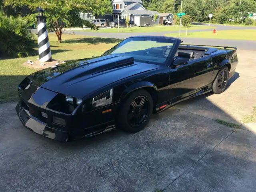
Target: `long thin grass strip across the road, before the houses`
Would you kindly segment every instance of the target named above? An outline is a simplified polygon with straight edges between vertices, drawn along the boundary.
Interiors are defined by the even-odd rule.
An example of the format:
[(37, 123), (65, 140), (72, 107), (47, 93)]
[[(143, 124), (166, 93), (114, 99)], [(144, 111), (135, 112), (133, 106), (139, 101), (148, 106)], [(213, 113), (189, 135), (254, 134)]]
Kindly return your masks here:
[[(200, 30), (200, 29), (209, 29), (212, 27), (209, 26), (190, 26), (189, 30)], [(182, 30), (185, 30), (183, 26)], [(120, 27), (118, 28), (99, 28), (98, 32), (100, 33), (142, 33), (142, 32), (168, 32), (168, 31), (178, 31), (180, 30), (179, 26), (153, 26), (153, 27)], [(74, 30), (74, 31), (85, 31), (85, 32), (95, 32), (94, 30), (86, 29), (86, 30)]]

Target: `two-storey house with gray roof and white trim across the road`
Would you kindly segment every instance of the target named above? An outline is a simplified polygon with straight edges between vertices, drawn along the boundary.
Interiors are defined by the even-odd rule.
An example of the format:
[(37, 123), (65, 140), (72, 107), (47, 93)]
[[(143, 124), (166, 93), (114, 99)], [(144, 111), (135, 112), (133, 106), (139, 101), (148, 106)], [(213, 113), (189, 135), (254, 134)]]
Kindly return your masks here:
[(157, 11), (146, 10), (142, 6), (141, 0), (112, 0), (113, 13), (112, 20), (130, 18), (130, 21), (134, 21), (134, 16), (150, 16), (154, 20), (154, 15), (157, 15), (157, 21), (155, 24), (159, 24), (159, 13)]

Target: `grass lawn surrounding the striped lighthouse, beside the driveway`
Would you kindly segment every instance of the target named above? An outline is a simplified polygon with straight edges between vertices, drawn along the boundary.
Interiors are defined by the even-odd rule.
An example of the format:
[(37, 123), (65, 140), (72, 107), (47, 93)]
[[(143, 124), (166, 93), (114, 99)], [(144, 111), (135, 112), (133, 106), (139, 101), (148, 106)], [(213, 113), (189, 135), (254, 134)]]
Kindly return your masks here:
[[(73, 60), (99, 56), (121, 40), (116, 38), (86, 37), (64, 34), (62, 43), (57, 36), (49, 35), (52, 58), (55, 60)], [(26, 60), (36, 60), (38, 56), (26, 58), (0, 58), (0, 104), (16, 101), (17, 86), (29, 74), (37, 69), (23, 66)]]

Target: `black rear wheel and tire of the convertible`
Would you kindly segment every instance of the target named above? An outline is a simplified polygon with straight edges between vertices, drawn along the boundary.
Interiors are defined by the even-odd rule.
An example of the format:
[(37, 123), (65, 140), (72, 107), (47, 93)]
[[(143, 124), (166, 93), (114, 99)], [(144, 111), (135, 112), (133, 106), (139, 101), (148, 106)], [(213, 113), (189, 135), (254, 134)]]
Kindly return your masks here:
[(220, 94), (226, 90), (228, 85), (228, 75), (228, 67), (222, 67), (212, 84), (212, 92), (214, 92), (215, 94)]

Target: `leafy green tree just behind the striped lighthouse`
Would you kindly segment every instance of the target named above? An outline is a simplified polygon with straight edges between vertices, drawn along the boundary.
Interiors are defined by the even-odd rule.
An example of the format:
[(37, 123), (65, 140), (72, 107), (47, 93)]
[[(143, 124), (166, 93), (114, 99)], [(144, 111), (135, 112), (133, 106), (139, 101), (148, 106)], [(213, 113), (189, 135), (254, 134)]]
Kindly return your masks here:
[[(108, 0), (4, 0), (5, 6), (27, 6), (35, 11), (39, 6), (45, 10), (48, 30), (54, 30), (58, 41), (62, 41), (62, 33), (65, 27), (84, 25), (97, 30), (96, 26), (87, 20), (82, 20), (79, 12), (92, 12), (94, 14), (106, 14), (112, 10)], [(105, 4), (104, 4), (105, 3)]]

